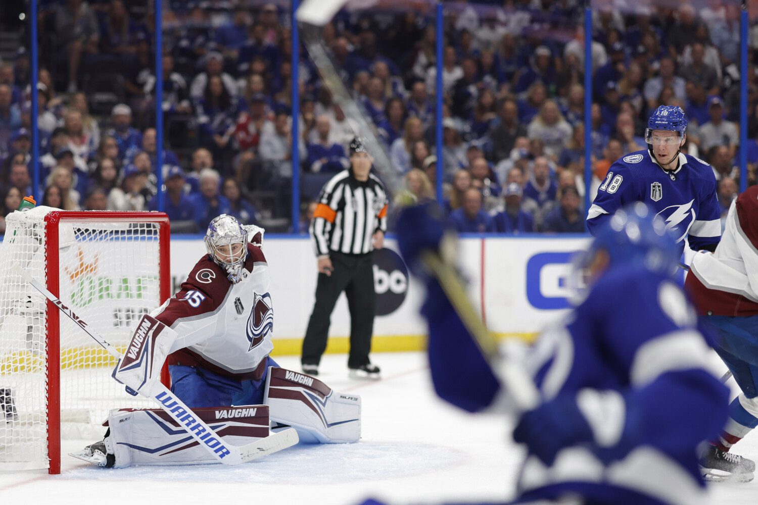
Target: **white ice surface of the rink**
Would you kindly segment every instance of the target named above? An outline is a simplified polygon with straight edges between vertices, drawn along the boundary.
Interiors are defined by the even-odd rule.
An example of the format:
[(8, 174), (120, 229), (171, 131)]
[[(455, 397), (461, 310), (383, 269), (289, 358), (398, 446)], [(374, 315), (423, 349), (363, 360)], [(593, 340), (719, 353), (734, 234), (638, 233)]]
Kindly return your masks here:
[[(374, 354), (380, 381), (348, 379), (345, 355), (327, 355), (320, 379), (363, 399), (357, 444), (303, 445), (241, 466), (100, 469), (65, 456), (61, 475), (0, 472), (0, 503), (240, 503), (343, 505), (376, 497), (393, 505), (498, 501), (512, 496), (522, 450), (498, 416), (471, 416), (434, 396), (421, 353)], [(296, 357), (280, 357), (298, 369)], [(64, 451), (91, 441), (64, 441)], [(758, 457), (758, 436), (736, 446)], [(713, 503), (758, 503), (758, 484), (716, 485)]]

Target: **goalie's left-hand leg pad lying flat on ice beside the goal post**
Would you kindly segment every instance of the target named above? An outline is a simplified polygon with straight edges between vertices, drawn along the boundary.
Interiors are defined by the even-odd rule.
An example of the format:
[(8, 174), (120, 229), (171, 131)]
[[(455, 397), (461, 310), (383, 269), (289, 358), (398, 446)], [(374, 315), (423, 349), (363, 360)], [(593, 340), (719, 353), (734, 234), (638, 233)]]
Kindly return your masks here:
[[(250, 444), (269, 435), (266, 405), (200, 408), (186, 413), (186, 416), (199, 417), (214, 430), (208, 436), (218, 438), (221, 435), (224, 441), (236, 446)], [(111, 434), (105, 442), (116, 457), (114, 468), (218, 463), (208, 449), (201, 447), (164, 410), (111, 410), (108, 426)]]

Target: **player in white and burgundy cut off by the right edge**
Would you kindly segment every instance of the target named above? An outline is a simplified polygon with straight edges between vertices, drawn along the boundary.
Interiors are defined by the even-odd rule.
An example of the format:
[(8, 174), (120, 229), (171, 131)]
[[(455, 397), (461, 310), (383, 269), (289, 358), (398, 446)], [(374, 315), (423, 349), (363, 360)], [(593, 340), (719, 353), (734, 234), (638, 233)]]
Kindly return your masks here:
[(695, 254), (685, 288), (702, 320), (719, 330), (714, 347), (742, 390), (724, 431), (700, 459), (703, 476), (749, 482), (755, 463), (729, 449), (758, 426), (758, 186), (731, 203), (719, 247)]

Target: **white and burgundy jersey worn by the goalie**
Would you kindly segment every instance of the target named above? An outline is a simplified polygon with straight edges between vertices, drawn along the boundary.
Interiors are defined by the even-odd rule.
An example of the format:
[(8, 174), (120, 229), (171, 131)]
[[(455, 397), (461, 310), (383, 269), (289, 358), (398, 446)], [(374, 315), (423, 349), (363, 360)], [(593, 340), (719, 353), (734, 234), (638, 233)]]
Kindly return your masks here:
[(236, 284), (207, 256), (181, 290), (151, 315), (177, 332), (169, 365), (202, 366), (236, 380), (260, 380), (274, 348), (271, 274), (258, 235), (248, 245), (243, 278)]

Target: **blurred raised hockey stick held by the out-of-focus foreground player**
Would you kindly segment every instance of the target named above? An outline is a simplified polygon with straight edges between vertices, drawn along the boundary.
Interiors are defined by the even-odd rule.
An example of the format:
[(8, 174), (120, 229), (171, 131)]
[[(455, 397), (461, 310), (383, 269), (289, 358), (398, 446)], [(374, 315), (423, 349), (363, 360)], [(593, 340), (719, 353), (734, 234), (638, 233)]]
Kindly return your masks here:
[[(399, 197), (404, 193), (402, 179), (392, 166), (387, 151), (377, 140), (374, 127), (365, 120), (365, 111), (350, 96), (343, 83), (337, 66), (329, 56), (329, 49), (321, 39), (321, 27), (328, 23), (334, 14), (346, 5), (347, 0), (305, 0), (296, 12), (302, 34), (302, 42), (308, 50), (324, 85), (332, 94), (333, 100), (340, 105), (346, 117), (353, 120), (358, 127), (357, 136), (362, 137), (364, 145), (374, 157), (374, 167), (381, 176), (390, 194)], [(407, 193), (407, 192), (405, 192)], [(402, 198), (407, 200), (406, 198)], [(443, 241), (444, 242), (444, 241)], [(444, 248), (444, 244), (442, 245)], [(500, 373), (504, 388), (511, 395), (519, 410), (531, 410), (540, 402), (540, 394), (534, 382), (528, 376), (521, 363), (507, 360), (503, 363), (496, 338), (482, 323), (476, 310), (468, 300), (461, 276), (449, 260), (452, 255), (427, 251), (421, 258), (426, 267), (440, 282), (440, 286), (453, 304), (468, 332), (475, 338), (482, 355), (490, 362), (493, 369)]]

